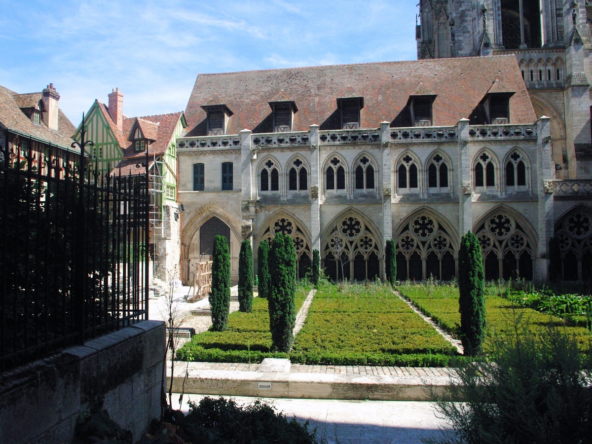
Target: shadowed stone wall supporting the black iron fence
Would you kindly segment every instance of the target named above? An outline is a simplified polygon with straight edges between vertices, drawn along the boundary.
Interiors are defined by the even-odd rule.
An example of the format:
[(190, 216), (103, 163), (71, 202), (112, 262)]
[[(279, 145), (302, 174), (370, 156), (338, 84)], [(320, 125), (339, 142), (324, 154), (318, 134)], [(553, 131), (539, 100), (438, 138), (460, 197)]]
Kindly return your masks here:
[(0, 442), (69, 443), (96, 395), (134, 442), (160, 416), (166, 328), (140, 321), (0, 375)]

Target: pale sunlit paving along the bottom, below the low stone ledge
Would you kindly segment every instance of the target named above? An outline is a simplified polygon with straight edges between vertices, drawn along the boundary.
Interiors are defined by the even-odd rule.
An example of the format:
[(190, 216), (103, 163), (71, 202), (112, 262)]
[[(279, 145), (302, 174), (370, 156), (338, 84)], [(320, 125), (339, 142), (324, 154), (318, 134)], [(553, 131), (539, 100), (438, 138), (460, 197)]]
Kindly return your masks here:
[[(199, 402), (204, 395), (184, 396), (181, 409), (188, 411), (187, 401)], [(288, 417), (317, 427), (318, 437), (340, 444), (420, 444), (422, 437), (441, 436), (449, 425), (433, 404), (420, 401), (348, 401), (287, 398), (231, 397), (237, 404), (262, 399)], [(173, 407), (179, 408), (179, 395), (173, 394)]]

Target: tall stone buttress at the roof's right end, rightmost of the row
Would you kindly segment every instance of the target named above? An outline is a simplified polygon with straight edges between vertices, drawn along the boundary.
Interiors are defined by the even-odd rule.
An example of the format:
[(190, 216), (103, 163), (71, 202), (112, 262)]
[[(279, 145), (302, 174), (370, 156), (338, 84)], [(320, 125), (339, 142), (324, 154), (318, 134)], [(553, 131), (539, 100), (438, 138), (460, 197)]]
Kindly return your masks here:
[(539, 198), (535, 279), (546, 281), (549, 269), (549, 239), (553, 236), (555, 215), (553, 211), (551, 126), (549, 117), (543, 115), (536, 122), (536, 194)]

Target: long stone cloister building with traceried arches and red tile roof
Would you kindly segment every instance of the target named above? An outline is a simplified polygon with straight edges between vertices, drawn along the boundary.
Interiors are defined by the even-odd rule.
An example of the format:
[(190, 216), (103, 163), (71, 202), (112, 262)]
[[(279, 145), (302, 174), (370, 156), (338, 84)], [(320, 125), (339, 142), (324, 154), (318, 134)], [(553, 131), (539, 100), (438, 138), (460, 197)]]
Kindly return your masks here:
[[(199, 75), (177, 139), (182, 279), (215, 234), (289, 234), (333, 279), (450, 279), (467, 231), (488, 279), (542, 281), (551, 236), (565, 279), (592, 263), (592, 214), (556, 181), (551, 118), (514, 54)], [(587, 192), (587, 191), (586, 191)], [(576, 200), (574, 200), (574, 198)]]

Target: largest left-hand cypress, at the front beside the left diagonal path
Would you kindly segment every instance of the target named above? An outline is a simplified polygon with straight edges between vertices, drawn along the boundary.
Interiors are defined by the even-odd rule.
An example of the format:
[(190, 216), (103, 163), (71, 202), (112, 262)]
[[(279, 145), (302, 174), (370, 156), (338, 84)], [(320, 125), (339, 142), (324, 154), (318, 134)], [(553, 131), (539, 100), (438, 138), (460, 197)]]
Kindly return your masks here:
[(296, 323), (296, 252), (287, 234), (276, 234), (269, 251), (269, 329), (274, 348), (289, 352)]

